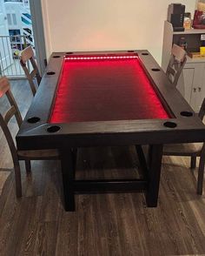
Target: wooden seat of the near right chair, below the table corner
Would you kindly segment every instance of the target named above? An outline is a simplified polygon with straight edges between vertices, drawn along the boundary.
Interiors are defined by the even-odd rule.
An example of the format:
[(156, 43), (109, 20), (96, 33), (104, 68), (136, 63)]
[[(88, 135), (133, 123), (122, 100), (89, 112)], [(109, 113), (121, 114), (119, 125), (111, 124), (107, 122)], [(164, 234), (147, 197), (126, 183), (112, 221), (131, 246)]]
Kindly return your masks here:
[(169, 144), (163, 146), (163, 155), (190, 156), (191, 154), (200, 156), (203, 143)]

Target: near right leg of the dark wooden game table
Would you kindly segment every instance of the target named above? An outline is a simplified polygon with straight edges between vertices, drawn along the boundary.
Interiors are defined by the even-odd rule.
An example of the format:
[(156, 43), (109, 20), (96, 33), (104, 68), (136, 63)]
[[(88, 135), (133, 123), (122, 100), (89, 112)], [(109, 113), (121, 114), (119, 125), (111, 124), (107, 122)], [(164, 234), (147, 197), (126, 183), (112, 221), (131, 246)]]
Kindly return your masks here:
[(149, 207), (157, 206), (162, 165), (162, 145), (149, 146), (149, 173), (146, 201)]

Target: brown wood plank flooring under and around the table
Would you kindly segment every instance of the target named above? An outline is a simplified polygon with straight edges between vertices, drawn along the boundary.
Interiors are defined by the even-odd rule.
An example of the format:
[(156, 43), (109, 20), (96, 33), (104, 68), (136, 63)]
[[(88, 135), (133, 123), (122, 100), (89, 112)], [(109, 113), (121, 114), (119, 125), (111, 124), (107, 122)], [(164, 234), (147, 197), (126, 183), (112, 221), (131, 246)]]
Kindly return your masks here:
[[(28, 86), (12, 82), (23, 115), (32, 99)], [(15, 120), (11, 126), (15, 133)], [(197, 170), (188, 165), (188, 158), (163, 158), (157, 208), (147, 208), (141, 193), (117, 193), (76, 195), (76, 212), (64, 212), (57, 161), (33, 161), (29, 176), (22, 163), (23, 197), (16, 198), (0, 131), (0, 177), (10, 172), (0, 196), (0, 255), (205, 255), (205, 192), (196, 195)], [(79, 179), (129, 179), (137, 169), (132, 146), (78, 151)]]

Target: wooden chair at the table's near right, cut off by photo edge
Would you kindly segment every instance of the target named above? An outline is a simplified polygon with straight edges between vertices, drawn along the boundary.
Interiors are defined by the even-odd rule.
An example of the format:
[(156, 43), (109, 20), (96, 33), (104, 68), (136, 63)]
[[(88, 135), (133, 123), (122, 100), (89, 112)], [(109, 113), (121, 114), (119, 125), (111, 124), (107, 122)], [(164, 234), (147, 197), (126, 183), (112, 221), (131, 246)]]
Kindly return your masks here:
[[(199, 111), (199, 118), (203, 119), (205, 115), (205, 98), (202, 102), (202, 107)], [(195, 168), (196, 157), (200, 157), (199, 171), (197, 179), (197, 194), (202, 195), (203, 175), (205, 164), (205, 144), (204, 143), (186, 143), (164, 145), (163, 155), (167, 156), (189, 156), (191, 157), (190, 168)]]

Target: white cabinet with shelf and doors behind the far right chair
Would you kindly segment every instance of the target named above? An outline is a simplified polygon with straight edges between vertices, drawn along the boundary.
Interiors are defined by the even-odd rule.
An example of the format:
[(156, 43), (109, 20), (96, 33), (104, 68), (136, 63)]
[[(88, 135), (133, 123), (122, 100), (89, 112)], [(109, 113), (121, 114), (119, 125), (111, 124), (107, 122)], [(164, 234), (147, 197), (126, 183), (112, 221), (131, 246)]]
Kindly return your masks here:
[[(205, 34), (205, 30), (191, 29), (175, 32), (172, 24), (166, 21), (162, 47), (162, 69), (164, 71), (167, 69), (172, 44), (177, 44), (180, 37), (185, 37), (190, 49), (199, 49), (202, 34)], [(202, 100), (205, 98), (205, 57), (187, 57), (187, 63), (179, 78), (177, 89), (194, 111), (199, 111)]]

